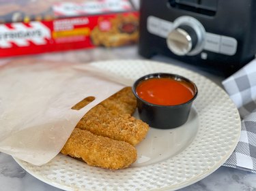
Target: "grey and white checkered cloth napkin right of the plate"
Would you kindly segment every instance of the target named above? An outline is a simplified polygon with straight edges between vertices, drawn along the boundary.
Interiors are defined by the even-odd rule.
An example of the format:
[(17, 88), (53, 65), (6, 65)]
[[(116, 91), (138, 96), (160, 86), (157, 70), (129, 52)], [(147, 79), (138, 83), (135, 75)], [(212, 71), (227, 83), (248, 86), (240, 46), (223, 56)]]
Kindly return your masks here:
[(226, 167), (256, 173), (256, 59), (223, 81), (242, 119), (241, 137)]

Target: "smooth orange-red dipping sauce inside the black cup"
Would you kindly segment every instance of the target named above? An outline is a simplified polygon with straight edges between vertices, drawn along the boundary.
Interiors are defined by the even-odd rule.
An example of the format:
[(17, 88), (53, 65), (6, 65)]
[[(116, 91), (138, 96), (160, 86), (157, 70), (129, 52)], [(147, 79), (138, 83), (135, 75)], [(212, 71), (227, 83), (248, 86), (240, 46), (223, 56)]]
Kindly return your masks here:
[(179, 105), (190, 101), (195, 95), (186, 82), (169, 77), (144, 80), (137, 86), (136, 92), (141, 99), (156, 105)]

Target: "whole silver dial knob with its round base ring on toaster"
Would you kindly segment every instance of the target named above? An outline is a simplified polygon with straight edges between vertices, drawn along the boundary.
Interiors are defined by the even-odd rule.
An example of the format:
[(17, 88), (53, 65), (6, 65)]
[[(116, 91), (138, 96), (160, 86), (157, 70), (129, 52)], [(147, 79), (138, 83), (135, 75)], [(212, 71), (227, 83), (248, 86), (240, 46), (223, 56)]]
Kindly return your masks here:
[(190, 16), (182, 16), (173, 22), (173, 29), (167, 36), (167, 46), (178, 56), (192, 56), (203, 50), (205, 29)]

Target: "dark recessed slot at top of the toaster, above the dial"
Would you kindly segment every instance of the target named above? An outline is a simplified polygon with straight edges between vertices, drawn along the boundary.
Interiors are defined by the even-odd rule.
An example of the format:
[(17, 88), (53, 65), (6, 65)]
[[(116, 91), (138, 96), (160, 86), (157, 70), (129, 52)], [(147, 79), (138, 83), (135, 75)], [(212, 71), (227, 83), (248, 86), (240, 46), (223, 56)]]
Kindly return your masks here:
[(179, 10), (214, 16), (218, 0), (169, 0), (169, 5)]

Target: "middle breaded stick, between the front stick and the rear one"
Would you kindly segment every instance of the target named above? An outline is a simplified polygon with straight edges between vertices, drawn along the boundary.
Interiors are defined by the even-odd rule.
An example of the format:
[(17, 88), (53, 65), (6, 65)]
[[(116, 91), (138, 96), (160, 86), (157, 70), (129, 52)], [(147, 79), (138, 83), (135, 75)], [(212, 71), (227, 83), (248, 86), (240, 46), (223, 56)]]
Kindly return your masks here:
[(102, 105), (97, 105), (83, 116), (76, 128), (137, 145), (147, 135), (149, 126), (128, 114), (114, 115)]

